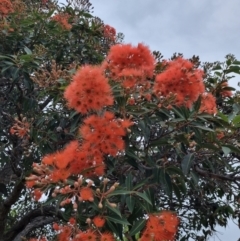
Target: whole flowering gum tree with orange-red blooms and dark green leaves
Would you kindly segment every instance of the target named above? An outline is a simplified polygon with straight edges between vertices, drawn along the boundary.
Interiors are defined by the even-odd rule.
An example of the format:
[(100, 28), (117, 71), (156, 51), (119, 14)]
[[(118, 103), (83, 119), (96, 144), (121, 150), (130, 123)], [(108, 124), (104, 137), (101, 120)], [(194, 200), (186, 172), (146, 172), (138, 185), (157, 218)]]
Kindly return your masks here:
[(6, 2), (0, 240), (206, 240), (239, 218), (234, 56), (163, 60), (88, 1)]

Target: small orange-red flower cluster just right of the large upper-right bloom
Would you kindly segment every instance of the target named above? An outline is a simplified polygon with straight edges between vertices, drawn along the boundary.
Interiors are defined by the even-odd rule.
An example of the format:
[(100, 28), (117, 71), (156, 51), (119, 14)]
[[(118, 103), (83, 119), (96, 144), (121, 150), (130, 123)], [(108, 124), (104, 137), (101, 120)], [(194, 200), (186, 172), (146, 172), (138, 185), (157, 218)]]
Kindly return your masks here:
[(216, 107), (216, 98), (211, 93), (203, 93), (201, 95), (201, 106), (199, 112), (204, 112), (208, 114), (216, 114), (217, 107)]

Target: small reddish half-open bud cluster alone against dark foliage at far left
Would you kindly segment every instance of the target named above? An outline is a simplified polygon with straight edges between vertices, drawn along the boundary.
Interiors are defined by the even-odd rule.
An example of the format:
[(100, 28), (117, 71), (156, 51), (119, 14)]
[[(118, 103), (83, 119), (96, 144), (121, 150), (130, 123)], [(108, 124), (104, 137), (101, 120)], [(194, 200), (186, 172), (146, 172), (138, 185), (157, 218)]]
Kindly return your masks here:
[(18, 136), (21, 139), (29, 139), (30, 123), (27, 121), (27, 118), (21, 115), (21, 120), (18, 118), (15, 118), (14, 120), (15, 123), (10, 129), (10, 133)]

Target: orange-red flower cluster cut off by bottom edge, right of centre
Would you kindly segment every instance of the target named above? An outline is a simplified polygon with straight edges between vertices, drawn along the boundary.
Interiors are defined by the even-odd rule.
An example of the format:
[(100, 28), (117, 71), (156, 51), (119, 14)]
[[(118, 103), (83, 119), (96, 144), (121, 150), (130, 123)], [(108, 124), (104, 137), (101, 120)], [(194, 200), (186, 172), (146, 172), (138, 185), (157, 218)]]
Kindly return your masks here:
[(179, 219), (172, 212), (150, 215), (140, 241), (173, 241), (178, 225)]

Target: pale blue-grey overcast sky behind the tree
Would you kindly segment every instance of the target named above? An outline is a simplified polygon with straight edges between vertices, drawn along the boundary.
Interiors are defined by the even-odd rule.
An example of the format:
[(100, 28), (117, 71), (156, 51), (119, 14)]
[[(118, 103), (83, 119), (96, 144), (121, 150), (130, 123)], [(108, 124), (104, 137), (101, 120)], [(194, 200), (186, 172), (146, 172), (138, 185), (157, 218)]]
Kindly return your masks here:
[[(143, 42), (164, 58), (174, 52), (205, 62), (224, 61), (231, 53), (240, 60), (240, 0), (90, 0), (94, 15), (125, 35), (124, 42)], [(237, 88), (240, 77), (231, 80)], [(238, 87), (239, 89), (239, 87)], [(210, 240), (237, 241), (231, 223)]]

